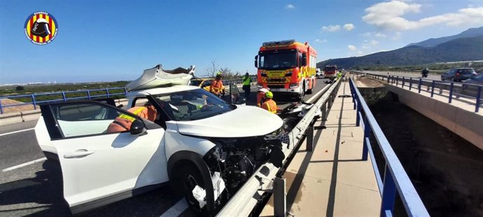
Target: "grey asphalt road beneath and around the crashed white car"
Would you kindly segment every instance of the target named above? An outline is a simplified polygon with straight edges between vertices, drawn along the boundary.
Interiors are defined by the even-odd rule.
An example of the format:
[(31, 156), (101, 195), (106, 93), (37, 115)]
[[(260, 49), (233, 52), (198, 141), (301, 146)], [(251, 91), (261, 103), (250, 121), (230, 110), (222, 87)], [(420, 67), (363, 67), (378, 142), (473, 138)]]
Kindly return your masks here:
[[(323, 81), (318, 79), (313, 93), (303, 97), (304, 101), (327, 85)], [(281, 109), (295, 102), (295, 99), (288, 99), (284, 95), (275, 94), (274, 99)], [(255, 105), (255, 101), (256, 88), (252, 88), (246, 104)], [(43, 160), (44, 155), (31, 129), (35, 125), (36, 121), (29, 121), (0, 126), (0, 216), (71, 215), (62, 195), (61, 169), (55, 162)], [(34, 160), (38, 162), (20, 167)], [(170, 208), (181, 200), (167, 185), (79, 216), (161, 216), (172, 211)], [(193, 214), (186, 209), (181, 216)]]

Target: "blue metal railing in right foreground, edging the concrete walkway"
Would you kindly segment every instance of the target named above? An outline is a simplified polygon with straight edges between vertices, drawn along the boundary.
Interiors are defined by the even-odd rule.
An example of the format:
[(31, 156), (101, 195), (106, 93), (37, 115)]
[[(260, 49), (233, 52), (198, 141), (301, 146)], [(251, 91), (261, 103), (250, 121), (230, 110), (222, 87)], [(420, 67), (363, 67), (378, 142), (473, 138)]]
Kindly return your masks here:
[[(364, 101), (353, 79), (350, 78), (349, 86), (351, 87), (351, 94), (354, 103), (353, 109), (357, 109), (356, 125), (363, 123), (364, 129), (364, 143), (363, 143), (363, 160), (367, 160), (370, 156), (374, 174), (377, 179), (377, 186), (379, 193), (381, 193), (381, 216), (392, 216), (395, 202), (395, 193), (398, 195), (406, 209), (407, 216), (429, 216), (426, 207), (424, 207), (421, 198), (416, 189), (407, 176), (405, 169), (402, 167), (398, 157), (395, 155), (391, 144), (386, 139), (386, 136), (377, 124), (376, 119), (372, 115), (369, 106)], [(384, 179), (379, 174), (374, 153), (370, 144), (370, 134), (373, 134), (377, 140), (377, 144), (381, 150), (386, 166), (384, 168)]]

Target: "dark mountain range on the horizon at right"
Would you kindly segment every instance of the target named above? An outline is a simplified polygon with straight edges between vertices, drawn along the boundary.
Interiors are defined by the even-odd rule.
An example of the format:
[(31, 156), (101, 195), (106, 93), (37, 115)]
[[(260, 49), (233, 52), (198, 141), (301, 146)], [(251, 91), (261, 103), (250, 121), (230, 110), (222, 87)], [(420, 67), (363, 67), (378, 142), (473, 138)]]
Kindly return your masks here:
[(483, 27), (472, 28), (454, 36), (430, 38), (396, 50), (375, 52), (361, 57), (327, 59), (318, 68), (337, 64), (339, 68), (366, 66), (409, 66), (436, 62), (483, 59)]

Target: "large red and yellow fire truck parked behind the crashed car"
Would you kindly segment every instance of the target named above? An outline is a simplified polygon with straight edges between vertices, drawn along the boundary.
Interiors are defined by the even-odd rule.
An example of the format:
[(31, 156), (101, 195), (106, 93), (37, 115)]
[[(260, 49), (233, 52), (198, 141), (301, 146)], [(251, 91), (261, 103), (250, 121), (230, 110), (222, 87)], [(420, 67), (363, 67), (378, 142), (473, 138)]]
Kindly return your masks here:
[(255, 56), (258, 88), (288, 92), (297, 99), (311, 94), (316, 84), (317, 51), (295, 40), (262, 43)]

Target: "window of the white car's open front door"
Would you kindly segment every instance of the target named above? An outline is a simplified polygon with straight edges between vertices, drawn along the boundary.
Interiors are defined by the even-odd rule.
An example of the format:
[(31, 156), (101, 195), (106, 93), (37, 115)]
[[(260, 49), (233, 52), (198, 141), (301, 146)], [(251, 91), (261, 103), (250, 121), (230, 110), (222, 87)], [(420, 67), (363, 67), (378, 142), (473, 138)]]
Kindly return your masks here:
[(139, 119), (106, 104), (92, 102), (54, 104), (50, 108), (64, 138), (127, 132), (130, 123)]

